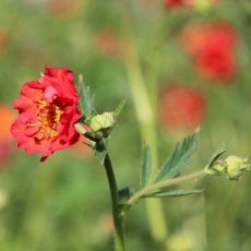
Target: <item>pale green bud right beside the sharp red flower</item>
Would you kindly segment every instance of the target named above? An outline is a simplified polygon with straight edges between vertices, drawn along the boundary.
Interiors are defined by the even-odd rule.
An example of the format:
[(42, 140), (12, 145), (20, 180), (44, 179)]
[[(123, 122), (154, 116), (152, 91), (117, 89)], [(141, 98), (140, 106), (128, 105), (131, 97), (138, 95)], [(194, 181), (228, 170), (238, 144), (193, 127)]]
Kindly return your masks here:
[(89, 128), (97, 138), (107, 138), (115, 127), (113, 112), (104, 112), (92, 118)]

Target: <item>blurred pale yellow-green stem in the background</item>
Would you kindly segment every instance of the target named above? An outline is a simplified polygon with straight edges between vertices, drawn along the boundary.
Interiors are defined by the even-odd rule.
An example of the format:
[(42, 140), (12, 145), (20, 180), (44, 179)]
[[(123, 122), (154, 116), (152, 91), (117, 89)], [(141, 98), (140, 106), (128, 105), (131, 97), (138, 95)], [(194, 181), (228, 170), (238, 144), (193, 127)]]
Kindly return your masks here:
[[(155, 128), (155, 112), (151, 104), (150, 94), (142, 74), (140, 58), (133, 40), (133, 24), (130, 11), (131, 1), (123, 0), (123, 60), (128, 74), (128, 83), (134, 103), (135, 113), (140, 123), (142, 141), (146, 140), (152, 148), (153, 168), (152, 177), (157, 172), (157, 139)], [(155, 96), (155, 93), (152, 94)], [(147, 200), (146, 210), (150, 222), (151, 234), (156, 241), (165, 241), (167, 236), (166, 220), (164, 217), (160, 200)]]

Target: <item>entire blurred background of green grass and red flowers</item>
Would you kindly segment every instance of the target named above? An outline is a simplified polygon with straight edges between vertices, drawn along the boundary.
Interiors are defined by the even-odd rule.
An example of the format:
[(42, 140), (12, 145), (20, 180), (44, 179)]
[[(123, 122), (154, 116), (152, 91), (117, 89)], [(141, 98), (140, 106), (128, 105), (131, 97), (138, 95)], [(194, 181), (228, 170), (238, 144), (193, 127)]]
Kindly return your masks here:
[[(1, 251), (113, 247), (108, 184), (92, 152), (80, 143), (41, 164), (9, 133), (20, 87), (47, 64), (71, 69), (76, 81), (83, 74), (99, 111), (127, 99), (109, 143), (120, 188), (138, 189), (144, 140), (160, 166), (199, 125), (187, 172), (223, 142), (229, 155), (250, 156), (249, 0), (1, 0)], [(127, 215), (128, 250), (251, 250), (250, 183), (250, 174), (192, 182), (204, 193), (164, 200), (158, 237), (148, 220), (156, 212), (139, 203)]]

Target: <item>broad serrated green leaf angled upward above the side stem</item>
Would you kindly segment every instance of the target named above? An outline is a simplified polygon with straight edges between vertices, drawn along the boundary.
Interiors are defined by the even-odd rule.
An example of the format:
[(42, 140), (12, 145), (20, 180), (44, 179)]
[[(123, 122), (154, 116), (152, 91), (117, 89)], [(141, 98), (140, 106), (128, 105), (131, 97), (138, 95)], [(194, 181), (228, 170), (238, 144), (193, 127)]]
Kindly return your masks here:
[(176, 145), (174, 153), (167, 158), (156, 175), (155, 183), (160, 180), (174, 178), (190, 164), (191, 157), (198, 146), (198, 134), (199, 130), (187, 136), (182, 143)]

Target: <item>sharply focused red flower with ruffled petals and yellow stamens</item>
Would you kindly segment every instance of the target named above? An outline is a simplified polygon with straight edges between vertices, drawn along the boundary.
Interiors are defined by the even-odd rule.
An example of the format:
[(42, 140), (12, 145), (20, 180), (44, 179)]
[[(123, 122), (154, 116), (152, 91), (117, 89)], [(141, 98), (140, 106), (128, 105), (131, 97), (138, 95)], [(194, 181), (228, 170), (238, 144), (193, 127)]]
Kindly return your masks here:
[(17, 146), (27, 153), (43, 153), (44, 162), (55, 151), (79, 141), (73, 123), (80, 118), (79, 94), (73, 73), (65, 69), (45, 68), (45, 74), (24, 84), (14, 101), (19, 118), (11, 127)]

